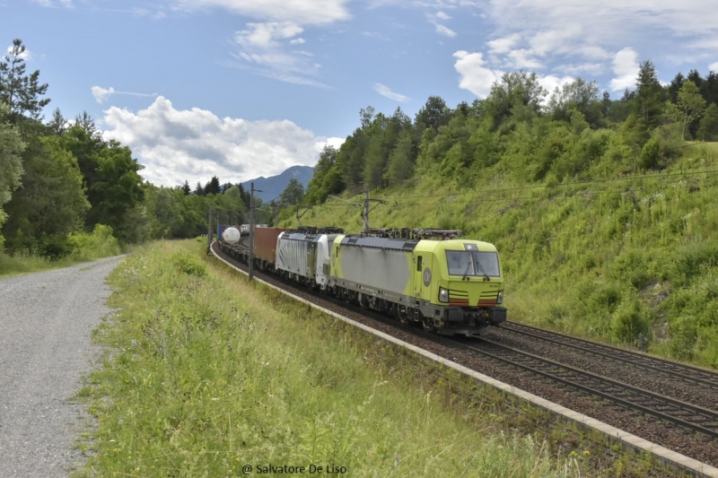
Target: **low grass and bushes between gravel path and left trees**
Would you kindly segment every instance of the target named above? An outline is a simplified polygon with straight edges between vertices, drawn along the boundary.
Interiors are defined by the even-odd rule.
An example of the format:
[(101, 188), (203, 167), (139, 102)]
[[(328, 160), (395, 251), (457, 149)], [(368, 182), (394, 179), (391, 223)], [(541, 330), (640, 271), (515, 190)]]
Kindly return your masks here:
[(0, 251), (0, 277), (58, 269), (102, 257), (118, 256), (123, 252), (118, 239), (112, 236), (112, 230), (107, 226), (99, 225), (91, 233), (72, 233), (69, 239), (72, 252), (58, 260), (22, 254), (8, 256)]

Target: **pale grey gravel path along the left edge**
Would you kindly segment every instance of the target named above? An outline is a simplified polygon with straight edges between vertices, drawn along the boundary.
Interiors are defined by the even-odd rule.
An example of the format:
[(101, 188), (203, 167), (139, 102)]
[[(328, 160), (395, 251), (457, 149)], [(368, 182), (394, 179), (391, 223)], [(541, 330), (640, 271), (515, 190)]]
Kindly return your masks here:
[(0, 477), (67, 476), (82, 430), (80, 387), (122, 256), (0, 279)]

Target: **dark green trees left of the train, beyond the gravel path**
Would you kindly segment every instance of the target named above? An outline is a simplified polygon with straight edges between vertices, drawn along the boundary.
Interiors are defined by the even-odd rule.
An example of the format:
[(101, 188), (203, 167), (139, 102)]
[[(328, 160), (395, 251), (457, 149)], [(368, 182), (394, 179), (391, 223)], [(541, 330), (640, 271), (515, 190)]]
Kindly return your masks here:
[(247, 221), (241, 184), (214, 177), (195, 191), (188, 181), (157, 187), (86, 112), (68, 120), (55, 109), (45, 121), (48, 84), (27, 72), (24, 52), (15, 39), (0, 61), (0, 252), (59, 258), (77, 243), (73, 234), (98, 226), (121, 244), (194, 237), (206, 232), (210, 208), (220, 221)]

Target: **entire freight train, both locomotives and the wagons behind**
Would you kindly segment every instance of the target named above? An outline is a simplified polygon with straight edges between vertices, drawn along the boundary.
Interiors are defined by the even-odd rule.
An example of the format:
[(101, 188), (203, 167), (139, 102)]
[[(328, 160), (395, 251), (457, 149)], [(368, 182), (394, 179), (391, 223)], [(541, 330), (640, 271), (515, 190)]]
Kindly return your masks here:
[[(220, 248), (249, 260), (248, 232), (228, 228)], [(256, 228), (254, 265), (348, 303), (442, 335), (482, 335), (506, 321), (494, 245), (460, 230)]]

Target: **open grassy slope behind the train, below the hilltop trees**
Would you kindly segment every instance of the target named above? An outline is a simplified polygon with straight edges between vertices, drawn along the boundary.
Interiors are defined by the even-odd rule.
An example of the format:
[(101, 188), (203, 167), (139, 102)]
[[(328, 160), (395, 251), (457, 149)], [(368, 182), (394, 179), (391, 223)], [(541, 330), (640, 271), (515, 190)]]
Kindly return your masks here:
[[(512, 320), (632, 346), (644, 335), (650, 352), (718, 367), (718, 143), (687, 147), (661, 173), (611, 176), (598, 170), (606, 164), (591, 177), (609, 179), (573, 184), (530, 183), (503, 164), (469, 178), (437, 168), (413, 187), (373, 191), (387, 204), (371, 224), (495, 243)], [(358, 208), (329, 202), (302, 223), (361, 230)]]

